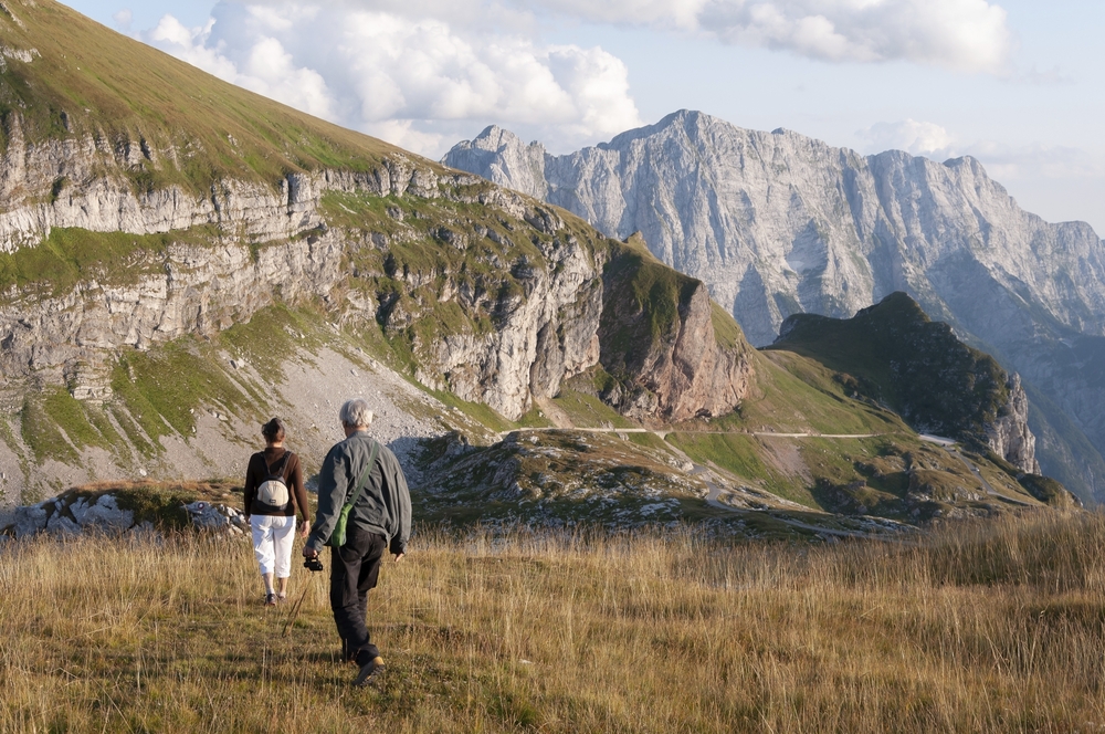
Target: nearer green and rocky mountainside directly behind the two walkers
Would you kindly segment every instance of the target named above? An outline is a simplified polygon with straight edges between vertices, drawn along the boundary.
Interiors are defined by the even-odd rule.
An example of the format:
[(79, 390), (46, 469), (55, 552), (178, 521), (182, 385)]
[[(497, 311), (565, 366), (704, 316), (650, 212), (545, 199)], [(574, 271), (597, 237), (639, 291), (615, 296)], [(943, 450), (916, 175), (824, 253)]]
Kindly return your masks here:
[[(0, 6), (0, 484), (34, 527), (80, 524), (43, 500), (73, 485), (241, 476), (273, 415), (311, 474), (357, 395), (446, 523), (855, 535), (1067, 496), (1015, 380), (907, 297), (872, 317), (950, 357), (872, 397), (817, 344), (753, 348), (640, 237), (52, 0)], [(978, 400), (904, 420), (899, 379)]]

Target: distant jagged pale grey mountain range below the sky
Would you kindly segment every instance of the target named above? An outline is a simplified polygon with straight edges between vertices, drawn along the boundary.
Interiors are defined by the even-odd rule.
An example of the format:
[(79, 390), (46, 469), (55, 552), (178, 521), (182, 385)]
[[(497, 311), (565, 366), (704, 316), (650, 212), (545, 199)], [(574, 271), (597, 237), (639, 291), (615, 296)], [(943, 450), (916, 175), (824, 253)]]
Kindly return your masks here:
[(972, 158), (861, 156), (684, 111), (562, 156), (493, 127), (443, 162), (544, 191), (612, 237), (640, 231), (753, 344), (790, 314), (848, 317), (904, 291), (1044, 391), (1045, 470), (1105, 490), (1105, 390), (1073, 354), (1105, 335), (1105, 247), (1085, 223), (1022, 211)]

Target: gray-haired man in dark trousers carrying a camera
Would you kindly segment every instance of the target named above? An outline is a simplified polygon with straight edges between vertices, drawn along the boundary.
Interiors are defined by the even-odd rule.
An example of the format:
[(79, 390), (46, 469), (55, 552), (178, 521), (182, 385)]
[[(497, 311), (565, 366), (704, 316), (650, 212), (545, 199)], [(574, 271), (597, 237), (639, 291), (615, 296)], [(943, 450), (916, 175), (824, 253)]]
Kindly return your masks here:
[(388, 550), (396, 563), (407, 553), (411, 497), (396, 454), (368, 434), (368, 402), (347, 400), (338, 415), (346, 439), (334, 444), (318, 473), (318, 511), (303, 555), (316, 558), (329, 544), (343, 505), (351, 501), (346, 542), (330, 548), (330, 608), (341, 652), (360, 669), (354, 685), (365, 685), (383, 668), (366, 623), (368, 591), (376, 588)]

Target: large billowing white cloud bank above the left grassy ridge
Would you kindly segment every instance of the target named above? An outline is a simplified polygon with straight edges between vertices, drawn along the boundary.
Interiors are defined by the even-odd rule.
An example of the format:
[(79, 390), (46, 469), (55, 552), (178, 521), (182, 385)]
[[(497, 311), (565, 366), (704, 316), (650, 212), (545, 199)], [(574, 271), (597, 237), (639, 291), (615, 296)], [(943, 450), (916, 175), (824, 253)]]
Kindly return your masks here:
[(491, 122), (554, 146), (641, 124), (625, 65), (602, 49), (445, 22), (432, 6), (224, 0), (202, 28), (166, 17), (144, 38), (229, 82), (431, 156)]

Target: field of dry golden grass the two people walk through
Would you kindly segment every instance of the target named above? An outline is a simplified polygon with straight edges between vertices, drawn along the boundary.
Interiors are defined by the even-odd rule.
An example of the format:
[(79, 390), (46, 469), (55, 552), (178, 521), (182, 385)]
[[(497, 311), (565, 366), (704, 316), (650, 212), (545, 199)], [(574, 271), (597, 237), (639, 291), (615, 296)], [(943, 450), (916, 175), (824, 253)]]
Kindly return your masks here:
[(423, 533), (349, 686), (322, 575), (265, 610), (245, 542), (0, 550), (0, 730), (1093, 732), (1105, 517), (919, 545)]

